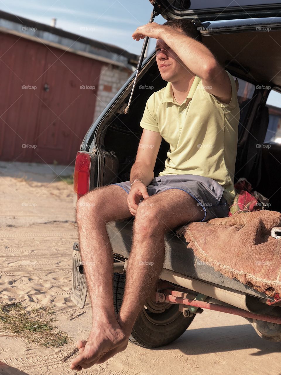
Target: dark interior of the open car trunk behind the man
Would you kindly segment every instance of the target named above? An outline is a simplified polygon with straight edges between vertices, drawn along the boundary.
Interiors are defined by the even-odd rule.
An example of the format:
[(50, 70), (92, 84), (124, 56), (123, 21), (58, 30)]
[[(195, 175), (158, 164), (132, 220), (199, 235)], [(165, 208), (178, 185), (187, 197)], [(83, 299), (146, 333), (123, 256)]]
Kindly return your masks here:
[[(281, 30), (274, 31), (274, 39), (281, 40)], [(271, 38), (268, 32), (248, 31), (243, 33), (243, 38), (239, 38), (237, 33), (214, 34), (203, 37), (203, 43), (211, 49), (222, 66), (226, 66), (227, 62), (233, 60), (232, 56), (236, 56), (236, 59), (226, 67), (233, 76), (252, 82), (255, 86), (281, 87), (281, 75), (278, 74), (281, 66), (281, 49), (275, 48), (276, 42), (274, 39)], [(239, 43), (237, 40), (239, 40)], [(244, 49), (242, 49), (243, 46), (245, 46)], [(239, 53), (239, 51), (241, 52)], [(256, 57), (254, 62), (253, 55)], [(103, 132), (100, 138), (100, 145), (105, 150), (114, 151), (115, 154), (113, 158), (115, 163), (111, 163), (111, 171), (108, 171), (107, 174), (103, 173), (105, 181), (101, 181), (101, 184), (129, 180), (130, 169), (134, 163), (139, 139), (142, 134), (142, 128), (139, 123), (146, 101), (154, 91), (160, 90), (167, 84), (159, 74), (155, 58), (151, 58), (146, 65), (148, 67), (136, 86), (130, 113), (128, 115), (113, 115), (107, 121), (106, 131)], [(144, 89), (145, 87), (150, 87), (151, 89)], [(246, 177), (254, 188), (260, 184), (262, 189), (260, 193), (271, 198), (271, 209), (280, 211), (281, 199), (278, 199), (279, 195), (272, 194), (274, 191), (272, 185), (263, 183), (263, 176), (266, 174), (267, 181), (272, 179), (275, 186), (281, 186), (280, 174), (276, 174), (279, 168), (278, 160), (281, 160), (280, 145), (275, 144), (271, 148), (260, 150), (260, 153), (263, 154), (262, 160), (269, 158), (271, 160), (267, 165), (261, 163), (261, 159), (258, 160), (262, 164), (260, 165), (262, 168), (262, 179), (260, 181), (256, 179), (257, 165), (253, 166), (251, 163), (247, 165), (247, 159), (251, 158), (249, 147), (252, 147), (253, 152), (257, 153), (256, 144), (262, 144), (265, 138), (268, 127), (267, 108), (265, 107), (267, 95), (268, 90), (263, 92), (260, 89), (256, 89), (253, 99), (250, 101), (240, 98), (241, 124), (239, 125), (235, 182), (240, 177)], [(124, 101), (127, 102), (127, 98)], [(258, 111), (259, 114), (253, 119), (253, 123), (247, 124), (250, 114), (253, 115), (254, 112)], [(250, 135), (249, 132), (251, 133)], [(164, 169), (164, 161), (168, 150), (169, 144), (163, 139), (154, 168), (155, 176)]]

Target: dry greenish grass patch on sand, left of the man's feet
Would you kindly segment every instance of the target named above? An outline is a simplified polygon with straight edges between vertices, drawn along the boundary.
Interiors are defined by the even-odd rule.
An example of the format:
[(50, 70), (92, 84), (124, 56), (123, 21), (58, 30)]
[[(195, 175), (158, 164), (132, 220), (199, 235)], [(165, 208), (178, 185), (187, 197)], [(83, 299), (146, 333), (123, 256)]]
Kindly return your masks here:
[(58, 331), (52, 322), (52, 307), (40, 307), (27, 311), (21, 303), (0, 306), (0, 327), (6, 332), (27, 339), (43, 347), (59, 348), (68, 344), (66, 333)]

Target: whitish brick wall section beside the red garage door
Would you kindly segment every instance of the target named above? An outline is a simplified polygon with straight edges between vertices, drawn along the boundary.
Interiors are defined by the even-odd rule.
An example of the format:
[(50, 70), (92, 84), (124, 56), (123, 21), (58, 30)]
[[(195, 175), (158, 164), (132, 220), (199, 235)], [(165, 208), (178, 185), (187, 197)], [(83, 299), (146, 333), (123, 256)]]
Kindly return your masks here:
[(102, 66), (93, 121), (99, 117), (131, 74), (132, 72), (121, 66), (108, 64)]

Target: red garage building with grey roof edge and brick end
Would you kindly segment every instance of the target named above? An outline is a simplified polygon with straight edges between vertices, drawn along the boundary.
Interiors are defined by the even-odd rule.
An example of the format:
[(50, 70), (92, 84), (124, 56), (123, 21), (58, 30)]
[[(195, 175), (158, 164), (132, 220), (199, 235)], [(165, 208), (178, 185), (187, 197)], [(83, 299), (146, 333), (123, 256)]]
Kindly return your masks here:
[(138, 56), (0, 12), (0, 160), (75, 162)]

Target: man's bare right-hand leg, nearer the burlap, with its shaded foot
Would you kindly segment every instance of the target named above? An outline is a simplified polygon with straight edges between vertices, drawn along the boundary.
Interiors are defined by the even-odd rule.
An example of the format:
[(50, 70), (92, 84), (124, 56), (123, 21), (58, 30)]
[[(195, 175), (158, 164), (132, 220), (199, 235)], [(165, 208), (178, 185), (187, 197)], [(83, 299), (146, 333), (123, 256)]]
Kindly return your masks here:
[[(133, 244), (126, 272), (126, 287), (117, 321), (129, 339), (133, 325), (151, 294), (164, 263), (164, 234), (190, 221), (201, 221), (202, 207), (178, 189), (151, 196), (139, 205), (133, 231)], [(126, 345), (127, 346), (127, 345)], [(124, 342), (108, 351), (102, 363), (126, 348)]]

